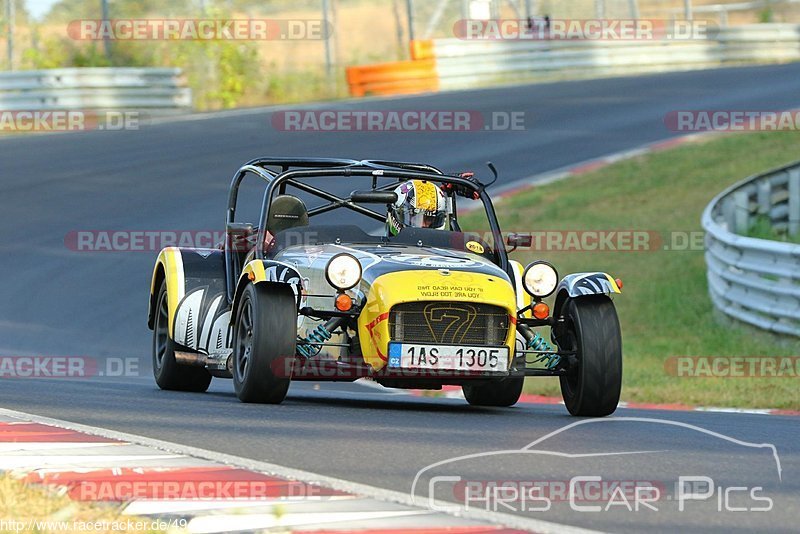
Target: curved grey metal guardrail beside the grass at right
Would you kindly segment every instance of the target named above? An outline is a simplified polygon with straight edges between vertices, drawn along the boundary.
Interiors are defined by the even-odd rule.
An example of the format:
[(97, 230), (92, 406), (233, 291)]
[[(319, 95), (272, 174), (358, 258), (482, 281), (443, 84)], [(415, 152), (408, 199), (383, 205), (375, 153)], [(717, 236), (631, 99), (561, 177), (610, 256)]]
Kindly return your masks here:
[(735, 319), (800, 336), (800, 245), (737, 235), (759, 218), (800, 235), (800, 161), (748, 178), (706, 207), (711, 300)]

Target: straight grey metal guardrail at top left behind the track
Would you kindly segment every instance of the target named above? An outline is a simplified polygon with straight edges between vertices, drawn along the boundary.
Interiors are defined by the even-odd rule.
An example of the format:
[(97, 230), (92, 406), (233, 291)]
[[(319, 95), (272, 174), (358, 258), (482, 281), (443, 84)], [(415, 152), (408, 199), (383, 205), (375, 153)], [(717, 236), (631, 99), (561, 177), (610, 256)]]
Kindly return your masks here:
[(172, 68), (99, 67), (0, 73), (0, 110), (192, 107), (192, 91)]

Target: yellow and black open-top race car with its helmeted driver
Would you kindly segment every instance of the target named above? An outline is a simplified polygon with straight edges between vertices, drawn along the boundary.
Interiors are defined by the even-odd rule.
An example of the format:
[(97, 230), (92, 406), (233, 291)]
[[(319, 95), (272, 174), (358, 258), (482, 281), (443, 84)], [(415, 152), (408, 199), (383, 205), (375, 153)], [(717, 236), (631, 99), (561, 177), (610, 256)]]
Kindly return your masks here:
[(510, 260), (531, 236), (504, 237), (472, 174), (256, 159), (233, 177), (225, 230), (218, 248), (156, 260), (148, 326), (162, 389), (232, 378), (241, 401), (280, 403), (291, 380), (369, 378), (511, 406), (526, 376), (558, 376), (570, 413), (617, 407), (621, 283)]

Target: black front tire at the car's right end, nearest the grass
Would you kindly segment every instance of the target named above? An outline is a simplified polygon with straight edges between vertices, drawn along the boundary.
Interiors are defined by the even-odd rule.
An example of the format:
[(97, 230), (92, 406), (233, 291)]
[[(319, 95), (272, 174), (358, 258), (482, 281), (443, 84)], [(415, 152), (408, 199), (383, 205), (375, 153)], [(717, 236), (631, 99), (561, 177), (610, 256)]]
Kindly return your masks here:
[(577, 358), (577, 369), (560, 378), (564, 404), (572, 415), (610, 415), (622, 390), (622, 334), (614, 303), (605, 295), (569, 299), (563, 315), (559, 348), (576, 351)]

